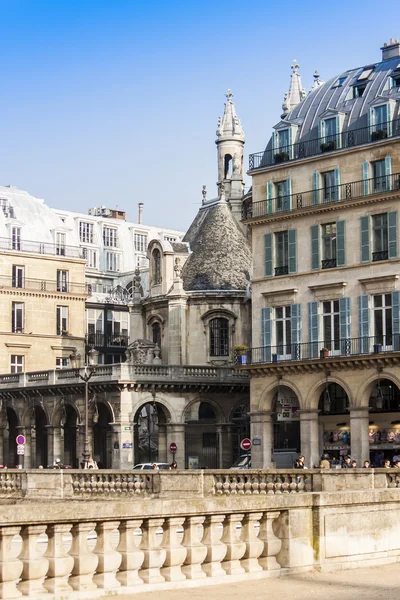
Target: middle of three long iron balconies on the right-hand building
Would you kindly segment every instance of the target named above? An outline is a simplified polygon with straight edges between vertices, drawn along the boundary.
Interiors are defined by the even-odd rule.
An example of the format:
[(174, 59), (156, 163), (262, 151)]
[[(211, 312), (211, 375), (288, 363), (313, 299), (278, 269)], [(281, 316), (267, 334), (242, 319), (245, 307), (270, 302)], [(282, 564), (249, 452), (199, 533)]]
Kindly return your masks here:
[[(383, 179), (384, 181), (382, 181)], [(260, 200), (259, 202), (248, 202), (243, 204), (242, 218), (244, 220), (255, 219), (315, 206), (322, 207), (396, 190), (400, 190), (400, 173), (386, 175), (378, 179), (352, 181), (351, 183), (342, 183), (329, 188), (298, 192), (284, 198), (278, 197)]]

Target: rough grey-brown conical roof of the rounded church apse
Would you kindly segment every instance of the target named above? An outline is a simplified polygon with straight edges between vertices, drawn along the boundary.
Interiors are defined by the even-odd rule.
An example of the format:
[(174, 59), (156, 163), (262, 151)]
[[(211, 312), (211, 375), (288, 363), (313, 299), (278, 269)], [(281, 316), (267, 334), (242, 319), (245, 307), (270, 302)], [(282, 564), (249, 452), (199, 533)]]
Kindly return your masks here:
[(184, 241), (192, 250), (182, 269), (186, 291), (248, 288), (250, 245), (226, 202), (200, 209)]

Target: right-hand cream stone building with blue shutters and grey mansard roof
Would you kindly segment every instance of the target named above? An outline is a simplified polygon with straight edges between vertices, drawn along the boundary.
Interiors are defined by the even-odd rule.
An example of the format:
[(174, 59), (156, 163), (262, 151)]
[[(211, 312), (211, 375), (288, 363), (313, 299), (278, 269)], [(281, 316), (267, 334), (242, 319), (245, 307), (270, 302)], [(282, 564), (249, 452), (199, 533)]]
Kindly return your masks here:
[(400, 454), (400, 44), (302, 89), (250, 156), (253, 466)]

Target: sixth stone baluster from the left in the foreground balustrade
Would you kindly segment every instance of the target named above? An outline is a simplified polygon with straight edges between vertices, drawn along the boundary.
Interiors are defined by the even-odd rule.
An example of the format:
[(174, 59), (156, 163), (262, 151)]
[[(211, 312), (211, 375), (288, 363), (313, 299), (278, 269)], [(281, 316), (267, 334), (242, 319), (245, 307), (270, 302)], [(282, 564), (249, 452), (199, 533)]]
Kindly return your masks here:
[(117, 550), (121, 553), (122, 561), (117, 579), (121, 585), (143, 584), (143, 579), (139, 577), (139, 569), (143, 563), (144, 552), (135, 543), (135, 531), (140, 528), (142, 522), (141, 519), (132, 519), (122, 521), (119, 526), (120, 538)]

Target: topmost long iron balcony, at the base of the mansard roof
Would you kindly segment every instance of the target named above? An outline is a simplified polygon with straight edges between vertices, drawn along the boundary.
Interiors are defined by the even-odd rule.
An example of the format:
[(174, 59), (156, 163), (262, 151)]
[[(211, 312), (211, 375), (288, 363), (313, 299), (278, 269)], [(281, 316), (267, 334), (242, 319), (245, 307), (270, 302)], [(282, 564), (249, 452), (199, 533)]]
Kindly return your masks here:
[(249, 156), (249, 171), (272, 167), (287, 161), (301, 160), (311, 156), (318, 156), (330, 152), (338, 152), (346, 148), (354, 148), (363, 144), (374, 144), (377, 141), (400, 136), (400, 119), (351, 129), (343, 133), (326, 137), (316, 138), (304, 142), (297, 142), (280, 149), (264, 150)]

